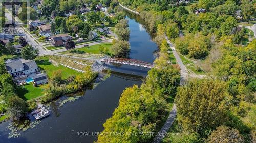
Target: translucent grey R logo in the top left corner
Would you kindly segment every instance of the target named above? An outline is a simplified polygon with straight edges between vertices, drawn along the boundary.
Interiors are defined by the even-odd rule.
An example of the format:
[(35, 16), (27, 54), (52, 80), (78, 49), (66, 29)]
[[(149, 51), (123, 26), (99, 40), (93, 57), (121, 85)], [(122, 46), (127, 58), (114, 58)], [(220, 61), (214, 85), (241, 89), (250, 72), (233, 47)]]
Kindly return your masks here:
[[(1, 33), (20, 33), (30, 20), (29, 0), (0, 0)], [(23, 30), (22, 30), (23, 31)]]

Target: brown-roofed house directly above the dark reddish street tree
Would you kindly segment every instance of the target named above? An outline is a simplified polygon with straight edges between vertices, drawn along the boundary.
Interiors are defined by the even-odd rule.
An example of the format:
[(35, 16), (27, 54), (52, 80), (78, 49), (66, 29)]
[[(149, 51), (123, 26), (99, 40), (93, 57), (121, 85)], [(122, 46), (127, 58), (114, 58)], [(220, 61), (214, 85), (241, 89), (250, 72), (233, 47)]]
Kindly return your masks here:
[(64, 34), (58, 34), (58, 35), (52, 36), (50, 40), (53, 46), (61, 46), (61, 45), (65, 45), (67, 41), (70, 39), (72, 39), (72, 37), (64, 33)]

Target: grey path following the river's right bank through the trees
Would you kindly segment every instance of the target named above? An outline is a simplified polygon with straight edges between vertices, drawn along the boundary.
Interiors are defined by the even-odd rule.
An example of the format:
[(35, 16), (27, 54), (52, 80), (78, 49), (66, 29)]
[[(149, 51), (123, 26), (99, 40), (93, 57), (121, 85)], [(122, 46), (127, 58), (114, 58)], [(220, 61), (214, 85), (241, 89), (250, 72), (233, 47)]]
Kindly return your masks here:
[[(168, 43), (168, 45), (170, 46), (170, 48), (172, 49), (172, 52), (176, 58), (177, 63), (180, 66), (180, 70), (181, 70), (181, 79), (180, 79), (180, 85), (184, 85), (185, 81), (187, 80), (187, 76), (188, 76), (188, 72), (187, 72), (187, 68), (186, 66), (182, 63), (179, 54), (177, 53), (175, 47), (173, 46), (173, 44), (169, 41), (168, 37), (165, 35), (165, 39)], [(157, 134), (157, 136), (154, 139), (154, 143), (160, 143), (162, 141), (162, 139), (165, 137), (165, 135), (167, 134), (168, 130), (170, 129), (170, 126), (172, 126), (175, 118), (177, 115), (177, 108), (176, 105), (173, 105), (172, 111), (170, 111), (170, 114), (167, 118), (167, 120), (165, 121), (163, 127), (161, 128), (161, 130), (159, 131), (159, 133)]]

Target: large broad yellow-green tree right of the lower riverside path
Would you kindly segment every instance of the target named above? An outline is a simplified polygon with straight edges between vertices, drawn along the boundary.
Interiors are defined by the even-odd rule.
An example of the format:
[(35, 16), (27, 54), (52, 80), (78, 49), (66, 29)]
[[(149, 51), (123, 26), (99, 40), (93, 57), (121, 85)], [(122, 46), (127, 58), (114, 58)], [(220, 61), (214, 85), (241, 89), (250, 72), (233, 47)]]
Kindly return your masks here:
[(195, 79), (179, 87), (175, 97), (178, 121), (185, 130), (203, 133), (227, 120), (230, 96), (225, 82)]

